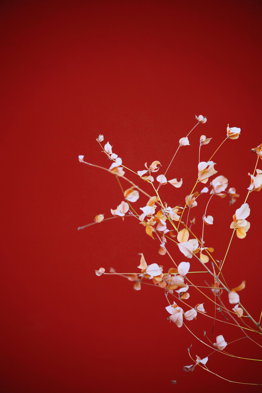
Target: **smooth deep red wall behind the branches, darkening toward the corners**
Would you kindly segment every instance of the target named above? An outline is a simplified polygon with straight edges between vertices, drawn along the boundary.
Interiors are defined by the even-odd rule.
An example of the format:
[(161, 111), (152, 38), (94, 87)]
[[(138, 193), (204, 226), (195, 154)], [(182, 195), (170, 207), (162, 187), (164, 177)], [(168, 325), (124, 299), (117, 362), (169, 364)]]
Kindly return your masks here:
[[(209, 205), (214, 225), (205, 228), (206, 244), (222, 259), (232, 215), (244, 202), (247, 173), (255, 166), (250, 149), (262, 142), (261, 3), (3, 1), (0, 7), (1, 391), (259, 391), (201, 369), (184, 373), (183, 365), (192, 364), (191, 343), (193, 357), (211, 349), (167, 321), (163, 292), (149, 286), (135, 292), (121, 277), (95, 276), (101, 266), (137, 271), (139, 252), (165, 270), (172, 263), (130, 218), (77, 231), (96, 214), (110, 217), (110, 208), (123, 199), (113, 176), (80, 164), (77, 156), (108, 167), (95, 141), (102, 133), (135, 171), (153, 160), (166, 168), (178, 140), (194, 126), (194, 115), (207, 116), (169, 170), (168, 177), (182, 177), (183, 186), (160, 189), (163, 200), (175, 206), (196, 180), (200, 135), (213, 137), (201, 151), (208, 160), (224, 140), (227, 123), (241, 127), (240, 138), (226, 141), (214, 158), (218, 174), (240, 193), (234, 206), (220, 198)], [(149, 184), (130, 178), (152, 193)], [(146, 202), (141, 196), (134, 206)], [(206, 202), (207, 197), (199, 199), (194, 210), (198, 235)], [(247, 280), (240, 299), (258, 320), (261, 193), (252, 193), (248, 202), (251, 229), (246, 239), (233, 239), (223, 269), (231, 288)], [(185, 260), (168, 245), (178, 263)], [(191, 264), (199, 269), (197, 261)], [(204, 279), (212, 283), (207, 275), (195, 279), (198, 285)], [(189, 304), (204, 301), (190, 293)], [(212, 315), (213, 305), (208, 300), (205, 305)], [(200, 315), (188, 326), (210, 337), (212, 320), (206, 320)], [(228, 326), (216, 322), (213, 336), (223, 334), (227, 342), (243, 336)], [(261, 357), (257, 348), (245, 338), (228, 351)], [(262, 383), (258, 362), (216, 354), (208, 366), (231, 380)]]

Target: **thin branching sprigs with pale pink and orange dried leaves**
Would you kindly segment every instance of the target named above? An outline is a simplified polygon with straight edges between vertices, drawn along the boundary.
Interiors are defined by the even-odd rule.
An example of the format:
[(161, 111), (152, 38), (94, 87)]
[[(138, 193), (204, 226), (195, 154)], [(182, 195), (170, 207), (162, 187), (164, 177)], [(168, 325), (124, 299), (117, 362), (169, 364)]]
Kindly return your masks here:
[[(91, 163), (88, 163), (83, 160), (84, 156), (80, 155), (79, 156), (79, 161), (82, 163), (85, 163), (87, 165), (97, 167), (99, 169), (103, 169), (115, 176), (117, 179), (117, 182), (121, 188), (121, 191), (123, 193), (123, 200), (119, 200), (116, 202), (116, 209), (111, 209), (111, 213), (113, 217), (106, 217), (104, 218), (104, 213), (99, 213), (95, 216), (94, 222), (87, 224), (85, 226), (79, 227), (78, 229), (83, 229), (88, 226), (91, 226), (93, 224), (100, 224), (101, 222), (105, 222), (106, 220), (113, 219), (113, 218), (120, 218), (124, 219), (125, 217), (132, 217), (136, 219), (139, 224), (145, 227), (145, 232), (147, 235), (149, 235), (151, 238), (156, 239), (159, 241), (159, 250), (158, 253), (160, 255), (165, 255), (167, 254), (170, 261), (173, 263), (175, 267), (170, 268), (167, 273), (163, 272), (163, 266), (158, 265), (156, 263), (149, 263), (145, 261), (145, 257), (143, 254), (141, 254), (141, 260), (140, 260), (140, 265), (138, 266), (139, 269), (141, 269), (141, 273), (116, 273), (114, 269), (111, 269), (110, 273), (105, 272), (104, 268), (99, 268), (99, 270), (96, 270), (95, 273), (99, 276), (101, 275), (106, 275), (106, 274), (115, 274), (119, 275), (121, 277), (125, 277), (130, 281), (134, 282), (134, 289), (135, 290), (141, 290), (141, 284), (145, 285), (150, 285), (150, 286), (158, 286), (162, 290), (164, 290), (165, 298), (167, 299), (169, 306), (166, 307), (166, 309), (169, 311), (170, 316), (168, 320), (173, 321), (177, 327), (182, 327), (185, 326), (189, 332), (200, 342), (202, 342), (205, 346), (215, 348), (213, 350), (213, 353), (220, 352), (226, 356), (231, 356), (233, 358), (238, 358), (238, 359), (247, 359), (247, 360), (255, 360), (255, 361), (261, 361), (260, 359), (251, 359), (247, 357), (241, 357), (241, 356), (236, 356), (233, 354), (230, 354), (226, 351), (224, 351), (225, 347), (229, 344), (225, 342), (224, 337), (222, 334), (218, 335), (216, 337), (216, 343), (213, 343), (208, 336), (205, 334), (206, 339), (211, 343), (211, 345), (205, 343), (203, 340), (200, 340), (187, 326), (187, 323), (192, 323), (190, 321), (193, 321), (197, 318), (198, 313), (204, 316), (207, 316), (208, 318), (212, 318), (214, 320), (213, 323), (213, 329), (214, 329), (214, 324), (215, 321), (219, 321), (220, 323), (226, 324), (226, 326), (235, 326), (238, 327), (238, 329), (241, 329), (242, 332), (244, 333), (244, 337), (238, 338), (237, 340), (241, 340), (243, 338), (248, 338), (251, 340), (253, 343), (256, 345), (259, 345), (262, 347), (257, 341), (253, 340), (248, 334), (247, 331), (251, 333), (257, 333), (258, 336), (260, 336), (262, 333), (262, 328), (260, 326), (260, 321), (262, 317), (262, 312), (260, 315), (260, 320), (256, 322), (254, 318), (247, 312), (247, 310), (243, 307), (243, 305), (240, 303), (240, 296), (238, 292), (240, 290), (243, 290), (245, 288), (246, 282), (243, 281), (242, 284), (236, 286), (233, 289), (229, 289), (229, 286), (227, 285), (225, 278), (222, 274), (222, 268), (225, 263), (225, 259), (227, 257), (229, 248), (232, 244), (234, 234), (236, 232), (236, 237), (239, 239), (243, 239), (246, 237), (246, 233), (249, 230), (250, 223), (246, 220), (246, 218), (249, 216), (250, 213), (250, 208), (249, 205), (246, 203), (247, 198), (249, 194), (253, 191), (260, 191), (262, 188), (262, 171), (260, 169), (257, 169), (258, 165), (258, 159), (259, 157), (262, 158), (262, 144), (259, 145), (258, 147), (252, 149), (253, 152), (257, 154), (257, 163), (255, 165), (255, 169), (253, 172), (253, 175), (249, 173), (250, 176), (250, 185), (247, 187), (248, 193), (246, 196), (246, 199), (244, 201), (244, 204), (240, 206), (240, 208), (236, 209), (235, 214), (233, 215), (233, 222), (231, 223), (231, 228), (233, 229), (233, 233), (229, 242), (229, 245), (227, 247), (227, 250), (225, 252), (224, 258), (221, 259), (221, 262), (218, 260), (214, 259), (214, 257), (211, 255), (214, 252), (213, 247), (206, 247), (204, 245), (204, 228), (206, 226), (206, 230), (208, 230), (208, 227), (210, 225), (214, 224), (214, 219), (212, 215), (207, 214), (207, 209), (208, 206), (211, 206), (212, 204), (209, 205), (211, 202), (211, 199), (214, 196), (220, 196), (221, 198), (226, 197), (227, 195), (230, 196), (231, 200), (229, 202), (230, 205), (236, 202), (236, 198), (239, 197), (239, 194), (236, 193), (236, 189), (234, 187), (229, 188), (227, 191), (227, 186), (228, 186), (228, 180), (225, 176), (219, 175), (216, 178), (213, 178), (211, 180), (209, 186), (205, 186), (201, 192), (195, 191), (196, 186), (199, 183), (204, 183), (207, 184), (207, 182), (210, 180), (211, 176), (216, 174), (218, 171), (214, 169), (214, 163), (211, 161), (213, 156), (216, 154), (218, 149), (223, 145), (223, 143), (227, 139), (235, 140), (238, 139), (240, 136), (240, 128), (238, 127), (229, 127), (227, 126), (227, 136), (225, 140), (222, 141), (222, 143), (219, 145), (219, 147), (216, 149), (216, 151), (213, 153), (209, 161), (207, 162), (200, 162), (200, 149), (203, 145), (208, 144), (212, 138), (206, 138), (205, 135), (202, 135), (200, 137), (200, 146), (199, 146), (199, 160), (198, 160), (198, 178), (196, 180), (196, 183), (194, 187), (191, 190), (191, 193), (185, 197), (185, 206), (183, 209), (180, 208), (180, 205), (175, 206), (175, 207), (170, 207), (167, 205), (167, 203), (163, 203), (161, 200), (161, 195), (159, 194), (159, 189), (160, 187), (166, 186), (168, 183), (171, 184), (175, 188), (179, 188), (183, 184), (183, 180), (177, 180), (177, 178), (173, 178), (171, 180), (167, 180), (167, 177), (165, 176), (167, 174), (167, 171), (169, 170), (172, 162), (174, 161), (174, 158), (176, 157), (176, 154), (178, 153), (180, 147), (183, 146), (188, 146), (189, 145), (189, 139), (188, 136), (189, 134), (196, 128), (196, 126), (199, 123), (205, 123), (207, 119), (200, 115), (196, 116), (196, 120), (198, 121), (196, 125), (191, 129), (191, 131), (187, 134), (187, 136), (180, 138), (179, 140), (179, 145), (174, 153), (174, 156), (172, 160), (170, 161), (166, 171), (164, 174), (158, 174), (158, 176), (155, 176), (155, 173), (159, 171), (161, 164), (159, 161), (154, 161), (152, 162), (151, 165), (148, 165), (145, 163), (145, 170), (143, 171), (134, 171), (133, 169), (128, 168), (127, 166), (123, 165), (122, 159), (115, 154), (115, 152), (112, 151), (112, 145), (110, 145), (109, 142), (107, 142), (104, 147), (101, 145), (101, 143), (104, 140), (103, 135), (99, 135), (97, 138), (97, 142), (102, 148), (102, 152), (106, 154), (108, 159), (112, 162), (109, 169), (101, 167), (99, 165), (94, 165)], [(183, 149), (182, 149), (183, 150)], [(153, 195), (149, 195), (147, 192), (145, 192), (141, 187), (138, 187), (134, 182), (132, 182), (130, 179), (125, 177), (125, 171), (124, 168), (130, 173), (135, 174), (139, 178), (141, 178), (144, 182), (147, 182), (151, 185), (152, 187), (152, 192)], [(255, 175), (256, 173), (256, 175)], [(131, 187), (129, 189), (124, 189), (121, 182), (120, 178), (123, 178), (125, 181), (127, 181)], [(154, 185), (154, 181), (158, 182), (158, 186)], [(210, 190), (209, 190), (210, 189)], [(198, 239), (198, 237), (195, 235), (194, 231), (192, 231), (192, 226), (194, 225), (195, 222), (195, 217), (192, 220), (189, 220), (189, 215), (191, 212), (191, 209), (197, 206), (197, 198), (199, 198), (200, 195), (205, 195), (205, 193), (208, 193), (210, 191), (210, 197), (209, 200), (206, 204), (205, 212), (203, 214), (202, 220), (202, 237)], [(137, 209), (134, 208), (133, 203), (136, 203), (137, 200), (139, 200), (139, 193), (142, 195), (147, 196), (149, 198), (147, 204), (142, 207)], [(141, 204), (140, 204), (141, 206)], [(160, 209), (157, 211), (156, 209), (160, 207)], [(188, 208), (188, 213), (187, 213), (187, 222), (182, 221), (183, 213), (185, 209)], [(140, 210), (142, 213), (140, 213)], [(182, 210), (182, 211), (180, 211)], [(210, 207), (209, 207), (210, 210)], [(139, 211), (139, 212), (138, 212)], [(210, 211), (212, 213), (212, 211)], [(176, 225), (175, 222), (178, 221), (178, 224)], [(188, 222), (190, 221), (190, 225), (188, 227)], [(179, 226), (182, 224), (184, 226), (184, 229), (179, 230)], [(169, 228), (171, 226), (171, 228)], [(190, 238), (190, 235), (193, 237), (192, 239)], [(176, 238), (176, 240), (175, 240)], [(166, 247), (167, 241), (171, 242), (171, 245), (174, 244), (176, 247), (176, 250), (179, 250), (185, 258), (191, 259), (193, 256), (196, 258), (199, 263), (202, 265), (202, 267), (205, 269), (201, 272), (194, 271), (190, 272), (190, 263), (187, 261), (182, 261), (180, 263), (176, 263), (174, 258), (172, 257), (171, 253)], [(199, 256), (198, 256), (199, 253)], [(181, 254), (180, 254), (181, 255)], [(208, 264), (211, 264), (211, 267), (207, 266)], [(209, 277), (211, 276), (211, 283), (207, 283), (205, 286), (204, 285), (197, 285), (194, 284), (192, 281), (188, 279), (189, 274), (191, 273), (203, 273), (207, 272), (209, 274)], [(151, 281), (147, 282), (147, 280)], [(206, 283), (206, 281), (205, 281)], [(187, 302), (187, 299), (190, 298), (190, 293), (189, 290), (191, 288), (194, 288), (198, 296), (203, 296), (204, 298), (208, 299), (209, 302), (213, 303), (214, 305), (214, 316), (208, 315), (203, 307), (203, 303), (198, 303), (195, 307), (191, 307), (189, 303)], [(201, 289), (200, 289), (201, 288)], [(225, 293), (228, 294), (228, 301), (230, 306), (226, 307), (224, 302), (222, 301), (222, 296), (223, 295), (223, 290)], [(176, 292), (176, 295), (173, 292)], [(206, 293), (208, 291), (208, 294)], [(211, 291), (211, 294), (210, 294)], [(189, 310), (183, 310), (180, 305), (178, 305), (176, 302), (173, 303), (173, 305), (169, 302), (169, 299), (167, 298), (167, 295), (170, 294), (171, 296), (174, 296), (176, 298), (176, 301), (178, 303), (182, 303), (183, 307), (186, 306), (189, 308)], [(212, 295), (212, 296), (211, 296)], [(191, 298), (190, 298), (191, 299)], [(191, 302), (191, 301), (190, 301)], [(234, 305), (234, 307), (232, 307)], [(220, 312), (221, 315), (224, 317), (224, 320), (220, 320), (217, 318), (217, 313)], [(223, 313), (224, 312), (224, 313)], [(234, 321), (234, 323), (228, 322), (228, 318), (226, 315)], [(244, 320), (247, 318), (247, 321), (250, 320), (255, 326), (256, 329), (252, 329)], [(237, 320), (238, 319), (238, 320)], [(194, 326), (194, 323), (192, 323), (192, 326)], [(211, 332), (211, 337), (213, 334), (213, 329)], [(237, 340), (234, 340), (237, 341)], [(211, 354), (209, 356), (211, 356)], [(190, 350), (189, 350), (189, 355), (190, 355)], [(191, 356), (191, 355), (190, 355)], [(199, 356), (196, 356), (196, 361), (194, 365), (191, 366), (185, 366), (184, 369), (186, 371), (193, 371), (194, 368), (197, 365), (200, 365), (200, 367), (204, 368), (206, 371), (209, 371), (207, 369), (206, 363), (208, 360), (208, 356), (205, 358), (200, 358)], [(213, 373), (212, 371), (209, 371)], [(216, 373), (213, 373), (214, 375), (217, 375)], [(219, 375), (218, 375), (219, 376)], [(220, 378), (227, 380), (226, 378), (223, 378), (219, 376)], [(229, 380), (227, 380), (229, 381)], [(234, 382), (234, 383), (242, 383), (242, 382), (235, 382), (235, 381), (229, 381), (229, 382)], [(254, 384), (255, 385), (255, 384)]]

